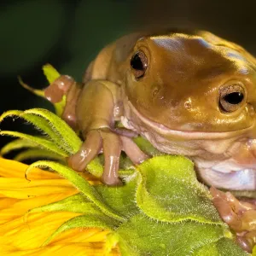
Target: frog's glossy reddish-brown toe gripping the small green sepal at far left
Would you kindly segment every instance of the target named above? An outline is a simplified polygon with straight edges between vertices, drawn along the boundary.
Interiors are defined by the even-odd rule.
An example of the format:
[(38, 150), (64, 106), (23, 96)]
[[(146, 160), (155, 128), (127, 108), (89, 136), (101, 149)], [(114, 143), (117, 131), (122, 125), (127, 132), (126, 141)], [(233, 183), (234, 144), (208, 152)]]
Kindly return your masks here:
[(49, 100), (49, 102), (61, 102), (62, 97), (67, 94), (67, 90), (69, 90), (72, 84), (74, 84), (73, 78), (67, 75), (61, 75), (44, 89), (44, 96)]

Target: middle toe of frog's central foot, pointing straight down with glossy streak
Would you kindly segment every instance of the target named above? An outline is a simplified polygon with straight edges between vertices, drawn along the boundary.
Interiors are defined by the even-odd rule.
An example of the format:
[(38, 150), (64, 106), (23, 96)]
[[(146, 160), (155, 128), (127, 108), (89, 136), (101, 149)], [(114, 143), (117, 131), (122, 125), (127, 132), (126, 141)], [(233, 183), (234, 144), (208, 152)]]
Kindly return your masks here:
[(119, 179), (119, 158), (122, 149), (122, 142), (119, 136), (112, 131), (100, 131), (103, 141), (104, 171), (102, 182), (108, 185), (120, 185)]

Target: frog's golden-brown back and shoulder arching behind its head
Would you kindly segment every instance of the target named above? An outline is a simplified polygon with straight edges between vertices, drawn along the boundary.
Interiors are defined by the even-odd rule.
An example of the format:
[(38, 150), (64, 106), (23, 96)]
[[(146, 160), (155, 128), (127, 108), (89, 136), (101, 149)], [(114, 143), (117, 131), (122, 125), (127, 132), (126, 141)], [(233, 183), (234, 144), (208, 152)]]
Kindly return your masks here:
[(183, 40), (183, 42), (184, 40), (197, 39), (200, 44), (205, 44), (206, 47), (207, 45), (217, 45), (235, 49), (241, 55), (244, 55), (247, 60), (254, 62), (253, 56), (241, 48), (240, 45), (219, 38), (211, 32), (186, 29), (134, 32), (117, 39), (103, 48), (86, 69), (83, 82), (86, 83), (90, 79), (107, 79), (113, 83), (120, 84), (125, 73), (124, 62), (129, 58), (135, 44), (141, 38), (178, 38), (177, 40)]

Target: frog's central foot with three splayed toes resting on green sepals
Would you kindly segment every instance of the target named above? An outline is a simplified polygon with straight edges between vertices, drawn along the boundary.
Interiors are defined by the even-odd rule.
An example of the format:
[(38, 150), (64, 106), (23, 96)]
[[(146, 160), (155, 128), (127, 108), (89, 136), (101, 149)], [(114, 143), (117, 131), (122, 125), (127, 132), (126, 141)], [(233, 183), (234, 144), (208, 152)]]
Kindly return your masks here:
[(86, 139), (76, 154), (68, 158), (68, 165), (73, 170), (84, 172), (85, 167), (97, 154), (104, 153), (104, 171), (102, 182), (108, 185), (119, 185), (119, 157), (121, 150), (134, 164), (139, 164), (148, 158), (131, 138), (119, 136), (109, 129), (92, 130), (87, 133)]

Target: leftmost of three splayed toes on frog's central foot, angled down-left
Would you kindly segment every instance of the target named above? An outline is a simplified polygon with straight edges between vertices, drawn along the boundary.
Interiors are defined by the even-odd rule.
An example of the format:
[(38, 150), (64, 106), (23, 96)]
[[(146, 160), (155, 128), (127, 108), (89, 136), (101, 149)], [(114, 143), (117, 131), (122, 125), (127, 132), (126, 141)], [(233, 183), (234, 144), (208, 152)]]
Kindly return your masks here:
[(102, 137), (99, 131), (89, 131), (86, 140), (76, 154), (67, 159), (68, 166), (77, 172), (84, 172), (85, 167), (102, 149)]

